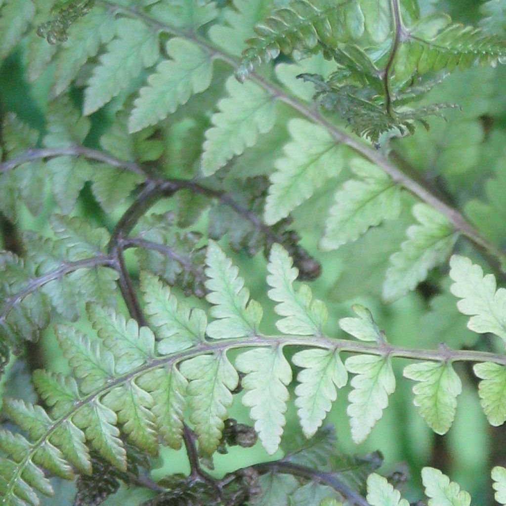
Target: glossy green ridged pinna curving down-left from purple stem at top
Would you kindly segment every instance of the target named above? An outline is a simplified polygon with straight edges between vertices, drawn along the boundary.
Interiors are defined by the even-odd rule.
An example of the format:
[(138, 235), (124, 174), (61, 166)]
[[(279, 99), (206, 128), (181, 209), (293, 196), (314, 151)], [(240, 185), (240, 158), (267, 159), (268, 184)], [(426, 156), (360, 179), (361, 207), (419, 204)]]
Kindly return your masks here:
[(363, 31), (363, 14), (355, 1), (293, 2), (255, 27), (257, 35), (247, 41), (249, 47), (242, 53), (236, 76), (244, 81), (256, 65), (269, 62), (280, 53), (312, 50), (319, 41), (335, 47), (338, 40), (360, 37)]

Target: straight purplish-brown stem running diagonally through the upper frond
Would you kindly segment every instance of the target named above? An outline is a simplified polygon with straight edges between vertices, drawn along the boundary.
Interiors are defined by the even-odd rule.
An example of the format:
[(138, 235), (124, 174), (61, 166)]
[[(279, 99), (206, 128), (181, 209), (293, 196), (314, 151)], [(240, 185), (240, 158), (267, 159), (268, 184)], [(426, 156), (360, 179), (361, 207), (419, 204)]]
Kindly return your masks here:
[[(240, 61), (234, 57), (231, 57), (221, 51), (219, 48), (210, 44), (207, 40), (201, 38), (195, 33), (187, 32), (176, 28), (171, 25), (167, 25), (160, 21), (157, 21), (147, 14), (139, 12), (138, 10), (122, 7), (115, 5), (107, 0), (98, 0), (98, 2), (109, 9), (112, 9), (115, 12), (122, 13), (126, 16), (133, 16), (138, 19), (142, 19), (146, 23), (151, 24), (161, 31), (165, 31), (167, 33), (171, 33), (173, 35), (184, 37), (192, 40), (195, 44), (197, 44), (203, 51), (205, 51), (209, 58), (219, 59), (223, 62), (227, 63), (234, 69), (238, 69), (240, 67)], [(396, 3), (394, 3), (395, 8)], [(394, 9), (394, 17), (395, 17), (395, 9)], [(399, 24), (400, 26), (400, 24)], [(399, 31), (400, 36), (402, 32)], [(499, 262), (506, 262), (506, 252), (494, 246), (492, 243), (488, 242), (481, 234), (472, 227), (465, 218), (458, 212), (457, 209), (449, 206), (442, 200), (440, 200), (436, 195), (432, 194), (425, 186), (418, 183), (417, 181), (411, 179), (409, 176), (404, 174), (400, 168), (394, 165), (388, 158), (386, 158), (381, 152), (375, 150), (372, 146), (367, 145), (363, 141), (359, 140), (357, 137), (351, 136), (343, 132), (338, 126), (334, 125), (328, 119), (326, 119), (319, 111), (317, 111), (314, 107), (308, 106), (296, 97), (290, 95), (283, 91), (280, 87), (274, 85), (271, 82), (268, 82), (259, 74), (255, 72), (251, 72), (249, 74), (251, 80), (255, 81), (259, 86), (261, 86), (264, 90), (266, 90), (272, 97), (286, 103), (291, 106), (294, 110), (301, 113), (303, 116), (311, 119), (315, 123), (319, 124), (324, 128), (337, 142), (346, 144), (351, 149), (361, 154), (365, 158), (374, 162), (378, 165), (382, 170), (384, 170), (394, 182), (403, 186), (411, 192), (413, 195), (418, 197), (420, 200), (428, 203), (430, 206), (437, 209), (442, 215), (444, 215), (448, 221), (453, 225), (453, 227), (460, 231), (463, 235), (465, 235), (471, 242), (490, 252), (491, 255), (496, 257)]]

